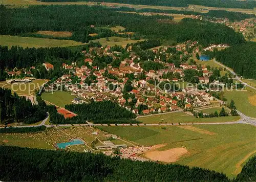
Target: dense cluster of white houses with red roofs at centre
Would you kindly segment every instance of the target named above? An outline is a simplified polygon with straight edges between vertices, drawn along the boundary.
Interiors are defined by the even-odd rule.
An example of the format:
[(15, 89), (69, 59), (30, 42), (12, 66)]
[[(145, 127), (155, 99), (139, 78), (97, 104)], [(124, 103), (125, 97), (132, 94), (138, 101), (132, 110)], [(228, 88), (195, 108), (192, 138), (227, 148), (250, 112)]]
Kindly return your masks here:
[[(186, 42), (188, 43), (188, 42)], [(190, 42), (190, 46), (194, 47), (198, 42)], [(184, 50), (182, 45), (176, 46), (177, 50)], [(153, 52), (156, 54), (154, 61), (158, 60), (159, 54), (165, 53), (167, 48), (162, 48), (159, 50), (154, 49)], [(105, 54), (110, 56), (115, 56), (116, 53), (110, 51), (110, 47), (103, 48), (93, 48), (91, 51), (96, 51), (97, 54)], [(129, 48), (127, 50), (130, 52)], [(156, 87), (156, 85), (149, 83), (149, 80), (157, 79), (158, 81), (172, 81), (177, 82), (181, 81), (184, 76), (184, 70), (194, 69), (198, 70), (197, 65), (189, 65), (187, 63), (181, 64), (179, 68), (173, 63), (164, 63), (165, 69), (154, 71), (150, 70), (148, 72), (144, 71), (139, 63), (135, 63), (135, 59), (140, 59), (139, 56), (131, 52), (129, 58), (125, 58), (121, 61), (119, 67), (112, 67), (108, 65), (104, 69), (99, 70), (97, 66), (93, 66), (94, 57), (91, 52), (83, 52), (86, 55), (84, 59), (84, 65), (78, 67), (75, 62), (71, 65), (66, 63), (62, 64), (62, 67), (66, 70), (69, 70), (70, 74), (62, 75), (54, 83), (57, 87), (64, 85), (65, 88), (75, 95), (76, 98), (73, 100), (73, 103), (80, 104), (83, 102), (89, 103), (92, 100), (100, 102), (103, 100), (111, 100), (118, 103), (120, 106), (131, 110), (135, 114), (148, 115), (150, 113), (157, 112), (167, 112), (175, 111), (181, 109), (189, 109), (192, 107), (199, 107), (209, 105), (210, 101), (214, 98), (208, 95), (205, 92), (199, 92), (194, 88), (185, 88), (182, 92), (167, 92), (166, 90), (161, 90)], [(53, 66), (49, 63), (44, 63), (46, 69), (53, 69)], [(90, 65), (90, 66), (89, 66)], [(212, 74), (207, 70), (205, 66), (202, 66), (203, 77), (199, 78), (201, 83), (208, 83), (209, 76)], [(173, 78), (172, 80), (163, 79), (162, 75), (164, 73), (173, 72), (179, 73), (181, 78)], [(134, 95), (134, 98), (137, 100), (135, 106), (132, 108), (130, 102), (133, 102), (132, 98), (124, 99), (123, 88), (129, 78), (125, 77), (126, 74), (133, 73), (135, 78), (132, 80), (133, 89), (129, 94)], [(140, 74), (145, 75), (145, 79), (139, 79), (137, 76)], [(111, 74), (118, 79), (111, 79), (106, 76), (106, 74)], [(73, 76), (72, 76), (73, 75)], [(92, 84), (87, 85), (86, 79), (90, 76), (95, 76), (95, 80)], [(79, 78), (78, 84), (72, 84), (72, 78), (77, 76)], [(112, 87), (110, 87), (112, 85)], [(115, 89), (112, 89), (115, 88)], [(51, 91), (52, 87), (49, 86), (45, 88), (46, 92)], [(139, 113), (139, 106), (146, 105), (147, 109), (142, 110)]]

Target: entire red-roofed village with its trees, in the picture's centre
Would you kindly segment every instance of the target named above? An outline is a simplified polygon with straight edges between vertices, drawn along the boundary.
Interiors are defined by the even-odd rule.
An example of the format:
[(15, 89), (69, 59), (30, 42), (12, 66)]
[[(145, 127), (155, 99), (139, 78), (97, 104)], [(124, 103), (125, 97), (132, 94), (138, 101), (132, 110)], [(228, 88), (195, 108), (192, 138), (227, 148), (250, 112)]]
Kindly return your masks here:
[[(185, 51), (187, 46), (193, 50), (191, 53)], [(228, 45), (211, 45), (211, 47), (228, 47)], [(187, 41), (184, 44), (176, 45), (174, 48), (176, 51), (182, 52), (179, 55), (180, 59), (191, 57), (192, 54), (199, 52), (198, 42), (196, 41)], [(110, 46), (90, 48), (88, 52), (82, 52), (86, 59), (84, 59), (84, 65), (81, 67), (78, 67), (76, 62), (72, 62), (71, 65), (63, 63), (62, 68), (68, 70), (70, 74), (59, 77), (54, 84), (48, 85), (45, 88), (45, 92), (53, 92), (65, 87), (67, 92), (76, 96), (72, 101), (75, 104), (89, 103), (92, 100), (96, 102), (111, 100), (112, 102), (119, 103), (120, 106), (127, 110), (131, 110), (136, 115), (186, 110), (207, 106), (211, 104), (211, 101), (216, 100), (216, 98), (204, 92), (204, 90), (196, 89), (193, 84), (187, 87), (183, 79), (184, 71), (186, 70), (202, 71), (203, 75), (199, 77), (199, 82), (207, 84), (212, 72), (208, 71), (206, 66), (198, 66), (197, 64), (182, 63), (179, 67), (176, 67), (174, 63), (162, 62), (160, 59), (162, 56), (166, 58), (172, 56), (172, 53), (166, 53), (167, 49), (167, 47), (161, 47), (152, 50), (155, 57), (153, 61), (164, 64), (164, 69), (145, 71), (138, 62), (140, 57), (132, 51), (131, 45), (126, 50), (129, 53), (129, 58), (121, 60), (119, 67), (108, 64), (104, 69), (98, 69), (97, 66), (93, 66), (96, 56), (108, 55), (115, 60), (121, 53), (111, 51)], [(209, 50), (209, 48), (206, 49)], [(47, 71), (54, 69), (54, 66), (48, 62), (45, 62), (43, 65)], [(172, 80), (166, 78), (165, 75), (168, 73), (174, 75)], [(72, 81), (72, 74), (76, 76), (77, 83)], [(131, 80), (129, 78), (131, 75), (134, 78), (131, 81), (132, 86), (129, 90), (126, 90), (128, 96), (124, 96), (123, 90), (125, 89), (126, 82)], [(94, 77), (95, 80), (88, 85), (85, 83), (86, 79), (91, 77)], [(159, 84), (156, 84), (161, 82), (179, 83), (180, 88), (177, 90), (164, 89)], [(133, 103), (134, 105), (131, 107), (134, 99), (136, 99), (136, 103)], [(138, 107), (140, 105), (145, 105), (146, 109), (139, 111)]]

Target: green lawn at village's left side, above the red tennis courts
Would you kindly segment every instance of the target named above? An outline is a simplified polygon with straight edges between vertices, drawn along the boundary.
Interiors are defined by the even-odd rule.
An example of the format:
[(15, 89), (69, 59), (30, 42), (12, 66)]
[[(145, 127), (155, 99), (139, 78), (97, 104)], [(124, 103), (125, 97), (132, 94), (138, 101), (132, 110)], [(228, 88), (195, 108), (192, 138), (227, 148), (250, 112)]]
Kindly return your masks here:
[(72, 96), (68, 92), (61, 92), (60, 90), (52, 93), (42, 93), (42, 99), (53, 103), (59, 107), (65, 107), (67, 104), (72, 104), (72, 100), (75, 96)]

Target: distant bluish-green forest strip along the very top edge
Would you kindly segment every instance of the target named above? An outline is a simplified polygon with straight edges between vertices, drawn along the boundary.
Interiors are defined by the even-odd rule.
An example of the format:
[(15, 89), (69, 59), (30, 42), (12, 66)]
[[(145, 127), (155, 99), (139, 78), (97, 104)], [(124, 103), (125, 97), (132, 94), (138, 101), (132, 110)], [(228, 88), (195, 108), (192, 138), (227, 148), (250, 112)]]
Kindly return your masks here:
[[(82, 2), (88, 0), (37, 0), (41, 2)], [(104, 3), (122, 3), (134, 5), (152, 5), (152, 6), (174, 6), (174, 7), (188, 7), (188, 5), (201, 5), (209, 7), (222, 7), (222, 8), (242, 8), (253, 9), (256, 7), (254, 1), (236, 1), (236, 0), (90, 0), (91, 2), (104, 2)]]

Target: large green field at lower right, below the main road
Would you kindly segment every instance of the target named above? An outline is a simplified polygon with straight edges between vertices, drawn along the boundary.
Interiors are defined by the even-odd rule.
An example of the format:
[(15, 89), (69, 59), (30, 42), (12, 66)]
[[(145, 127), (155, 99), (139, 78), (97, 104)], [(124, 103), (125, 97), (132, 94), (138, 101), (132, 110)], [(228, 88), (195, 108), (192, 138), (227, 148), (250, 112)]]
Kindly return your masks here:
[[(246, 124), (232, 125), (194, 125), (197, 130), (183, 126), (100, 126), (104, 130), (117, 134), (124, 139), (140, 145), (166, 144), (157, 151), (184, 148), (188, 152), (178, 157), (178, 164), (203, 167), (236, 176), (256, 147), (256, 127)], [(192, 126), (191, 126), (192, 127)], [(137, 132), (152, 130), (152, 135), (137, 138)], [(208, 131), (207, 134), (201, 131)], [(157, 134), (156, 134), (157, 132)], [(130, 133), (130, 134), (127, 134)], [(251, 155), (248, 155), (251, 154)], [(167, 159), (168, 160), (168, 159)], [(241, 163), (241, 161), (243, 163)]]

